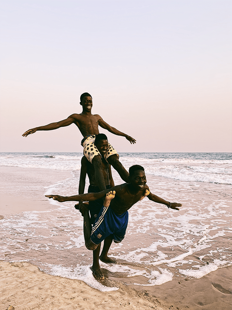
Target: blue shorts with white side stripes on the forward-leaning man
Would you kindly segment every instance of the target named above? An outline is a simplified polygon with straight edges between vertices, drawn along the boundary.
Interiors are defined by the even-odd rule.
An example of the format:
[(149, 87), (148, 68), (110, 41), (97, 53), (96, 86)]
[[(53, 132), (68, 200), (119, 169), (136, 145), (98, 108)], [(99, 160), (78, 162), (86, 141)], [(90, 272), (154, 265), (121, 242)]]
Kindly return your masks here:
[(102, 206), (92, 228), (91, 241), (99, 244), (106, 237), (113, 235), (115, 243), (121, 242), (126, 234), (128, 211), (118, 215), (109, 207)]

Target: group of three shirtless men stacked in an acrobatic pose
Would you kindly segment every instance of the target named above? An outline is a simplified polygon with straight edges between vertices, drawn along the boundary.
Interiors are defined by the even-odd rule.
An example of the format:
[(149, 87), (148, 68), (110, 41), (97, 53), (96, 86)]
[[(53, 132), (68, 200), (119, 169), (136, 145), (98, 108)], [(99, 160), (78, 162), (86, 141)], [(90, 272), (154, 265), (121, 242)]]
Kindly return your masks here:
[[(93, 250), (92, 272), (97, 279), (101, 280), (104, 279), (99, 265), (101, 242), (104, 240), (100, 259), (107, 263), (115, 263), (116, 261), (109, 258), (107, 254), (113, 240), (118, 243), (125, 237), (128, 209), (144, 197), (174, 210), (179, 210), (178, 207), (182, 204), (170, 203), (152, 194), (146, 185), (146, 175), (142, 166), (131, 166), (128, 173), (119, 161), (118, 153), (108, 143), (106, 135), (99, 134), (98, 126), (115, 135), (124, 136), (131, 144), (136, 143), (136, 140), (107, 124), (100, 115), (93, 115), (90, 94), (84, 93), (80, 96), (80, 105), (82, 113), (72, 114), (60, 122), (29, 129), (23, 136), (39, 130), (54, 130), (72, 123), (75, 123), (83, 135), (81, 145), (84, 147), (84, 156), (81, 160), (79, 195), (67, 197), (46, 195), (46, 197), (60, 202), (80, 201), (75, 208), (79, 209), (84, 217), (85, 245), (87, 249)], [(114, 186), (111, 165), (126, 183)], [(86, 174), (90, 185), (88, 193), (84, 194)], [(89, 202), (83, 203), (83, 201)]]

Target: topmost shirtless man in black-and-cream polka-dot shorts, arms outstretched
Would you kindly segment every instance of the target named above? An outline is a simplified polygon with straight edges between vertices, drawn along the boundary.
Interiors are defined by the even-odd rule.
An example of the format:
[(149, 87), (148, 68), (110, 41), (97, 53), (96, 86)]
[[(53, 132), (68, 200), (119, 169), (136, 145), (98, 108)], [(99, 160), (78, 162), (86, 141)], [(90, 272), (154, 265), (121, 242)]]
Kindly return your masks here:
[[(100, 115), (92, 114), (92, 96), (89, 93), (84, 93), (80, 96), (80, 105), (82, 106), (82, 113), (72, 114), (68, 118), (51, 123), (45, 126), (39, 126), (24, 132), (23, 136), (27, 137), (29, 134), (33, 134), (38, 130), (54, 130), (60, 127), (69, 126), (74, 123), (78, 128), (84, 139), (81, 141), (81, 145), (84, 147), (84, 155), (93, 164), (95, 169), (95, 179), (101, 191), (105, 190), (105, 181), (102, 174), (101, 155), (94, 145), (95, 135), (99, 134), (98, 125), (104, 129), (107, 129), (115, 135), (125, 137), (131, 144), (136, 143), (136, 140), (129, 135), (117, 130), (116, 128), (107, 124)], [(105, 153), (106, 161), (118, 171), (118, 174), (123, 181), (128, 182), (128, 172), (122, 166), (118, 160), (119, 155), (116, 150), (109, 144), (109, 149)]]

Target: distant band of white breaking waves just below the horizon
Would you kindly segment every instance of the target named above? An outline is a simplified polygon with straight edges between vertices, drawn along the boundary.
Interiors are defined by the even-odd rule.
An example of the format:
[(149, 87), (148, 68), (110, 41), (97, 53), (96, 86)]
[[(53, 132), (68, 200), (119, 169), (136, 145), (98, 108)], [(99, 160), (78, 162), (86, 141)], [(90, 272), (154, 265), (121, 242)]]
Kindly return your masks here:
[[(122, 153), (120, 161), (127, 170), (132, 165), (140, 164), (147, 175), (182, 181), (232, 184), (232, 159), (228, 154), (205, 154), (205, 158), (203, 153), (185, 153), (185, 157), (182, 153), (159, 155)], [(2, 153), (0, 165), (73, 171), (80, 170), (82, 156), (82, 153)]]

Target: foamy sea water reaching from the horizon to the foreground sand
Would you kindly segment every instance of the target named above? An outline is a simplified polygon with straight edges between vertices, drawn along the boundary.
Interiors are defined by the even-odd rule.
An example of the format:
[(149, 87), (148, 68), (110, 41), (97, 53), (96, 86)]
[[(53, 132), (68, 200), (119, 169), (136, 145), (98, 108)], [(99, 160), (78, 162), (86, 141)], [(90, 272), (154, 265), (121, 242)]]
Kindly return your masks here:
[[(82, 280), (101, 291), (117, 290), (117, 281), (145, 288), (173, 279), (201, 278), (232, 265), (231, 153), (119, 155), (127, 170), (135, 164), (144, 167), (153, 194), (183, 206), (176, 211), (148, 198), (135, 204), (129, 210), (124, 240), (110, 247), (109, 256), (118, 263), (100, 262), (108, 281), (92, 276), (83, 218), (71, 201), (49, 200), (49, 210), (1, 219), (0, 259), (27, 261), (45, 273)], [(67, 170), (69, 178), (43, 190), (44, 195), (66, 196), (78, 194), (81, 158), (82, 153), (1, 153), (0, 165)], [(115, 185), (124, 183), (112, 170)]]

